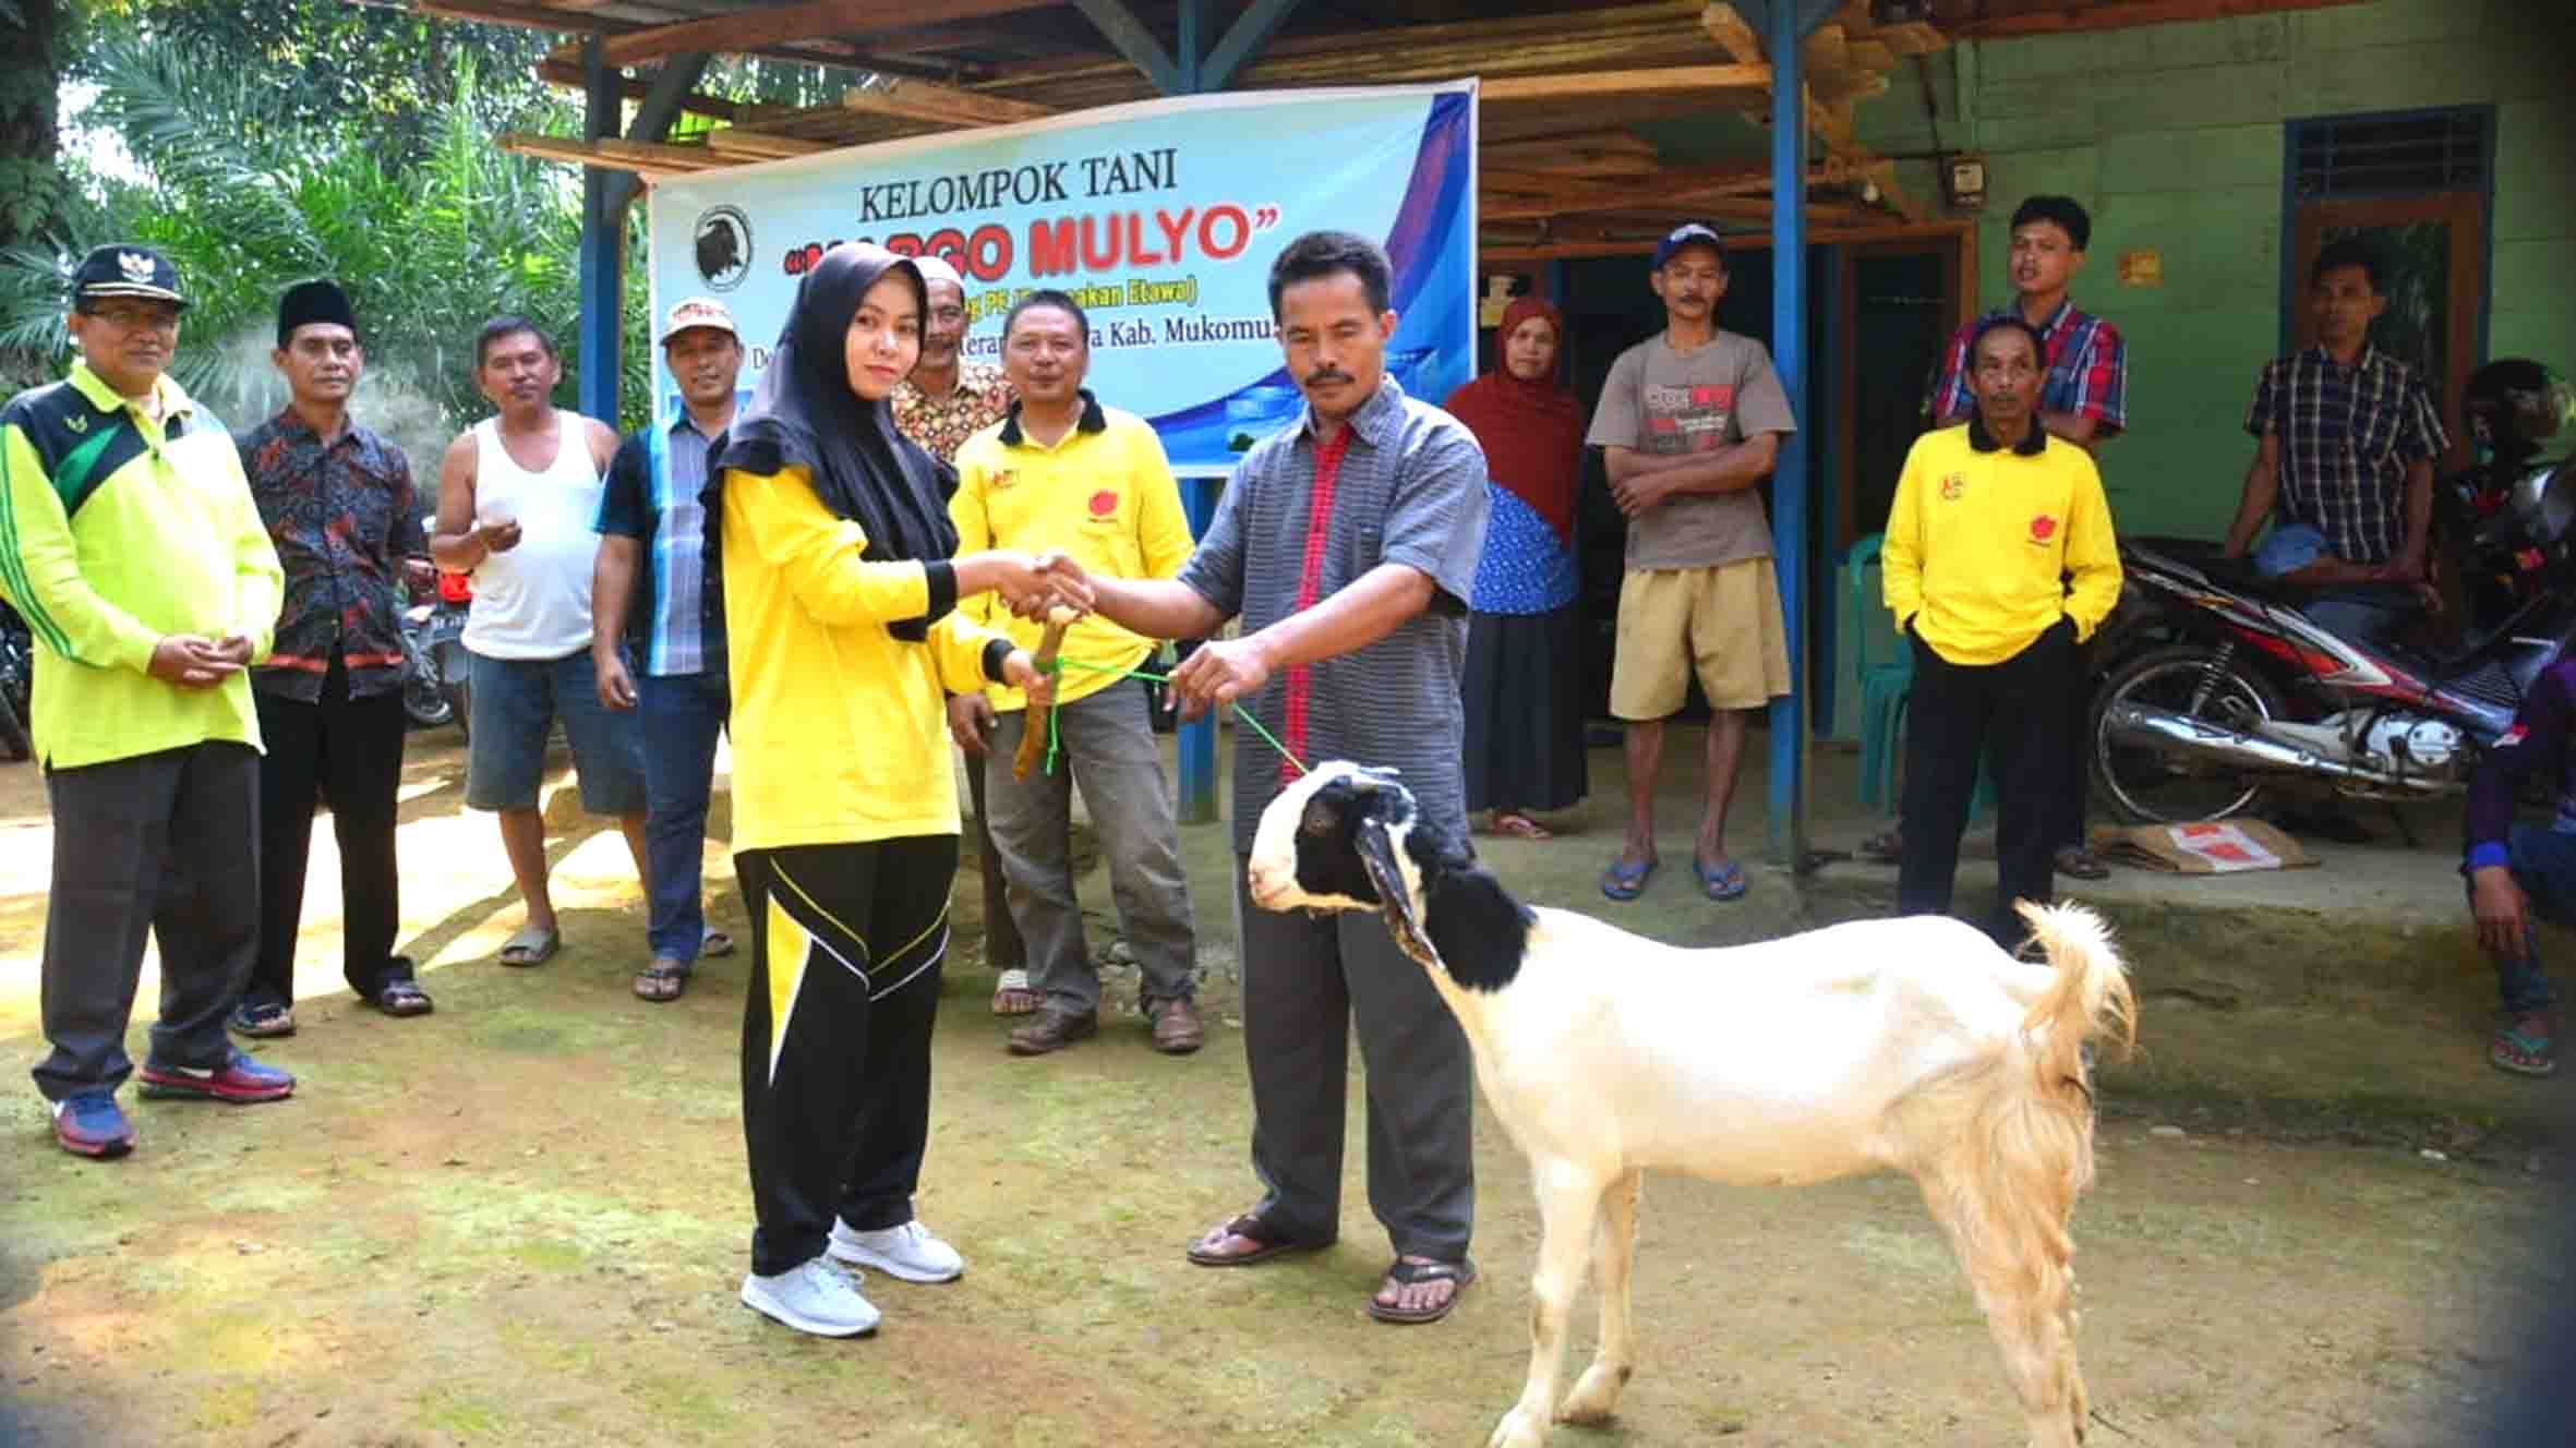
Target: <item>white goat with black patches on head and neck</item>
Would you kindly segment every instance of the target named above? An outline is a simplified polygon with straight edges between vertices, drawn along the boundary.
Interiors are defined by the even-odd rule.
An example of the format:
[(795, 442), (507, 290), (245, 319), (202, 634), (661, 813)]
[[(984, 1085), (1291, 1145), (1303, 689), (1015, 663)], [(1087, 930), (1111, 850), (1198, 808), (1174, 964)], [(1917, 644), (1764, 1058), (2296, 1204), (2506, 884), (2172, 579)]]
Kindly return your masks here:
[[(1677, 951), (1522, 907), (1461, 840), (1419, 824), (1391, 773), (1350, 763), (1262, 812), (1249, 884), (1265, 910), (1381, 910), (1530, 1157), (1543, 1224), (1530, 1378), (1489, 1448), (1538, 1448), (1551, 1417), (1610, 1417), (1633, 1371), (1646, 1170), (1777, 1185), (1911, 1175), (2004, 1353), (2030, 1448), (2084, 1438), (2066, 1234), (2092, 1183), (2084, 1043), (2136, 1038), (2128, 976), (2092, 912), (2022, 904), (2045, 966), (1947, 917)], [(1600, 1350), (1558, 1404), (1587, 1257)]]

